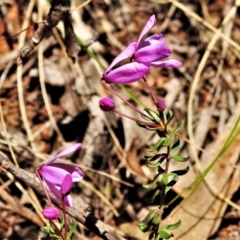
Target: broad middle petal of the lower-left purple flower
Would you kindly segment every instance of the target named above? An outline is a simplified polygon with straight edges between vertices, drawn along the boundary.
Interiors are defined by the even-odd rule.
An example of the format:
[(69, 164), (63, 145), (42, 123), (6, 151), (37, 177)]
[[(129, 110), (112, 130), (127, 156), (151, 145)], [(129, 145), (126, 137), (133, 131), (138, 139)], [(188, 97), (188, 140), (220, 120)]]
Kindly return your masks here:
[(72, 176), (73, 182), (80, 181), (83, 178), (83, 173), (78, 167), (64, 163), (43, 165), (40, 167), (40, 174), (44, 180), (58, 186), (61, 186), (67, 174)]

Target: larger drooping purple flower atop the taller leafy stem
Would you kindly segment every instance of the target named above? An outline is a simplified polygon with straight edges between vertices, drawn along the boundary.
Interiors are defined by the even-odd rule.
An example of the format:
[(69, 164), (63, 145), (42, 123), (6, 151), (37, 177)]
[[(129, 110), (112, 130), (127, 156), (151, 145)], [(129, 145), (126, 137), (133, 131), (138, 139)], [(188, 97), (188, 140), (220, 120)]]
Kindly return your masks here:
[[(142, 41), (145, 34), (156, 24), (157, 19), (152, 15), (143, 28), (137, 42), (132, 42), (121, 52), (106, 69), (103, 79), (109, 83), (124, 84), (138, 81), (146, 76), (150, 66), (153, 67), (180, 67), (182, 63), (176, 59), (166, 59), (171, 49), (164, 45), (163, 34), (155, 34)], [(135, 62), (113, 69), (124, 59), (134, 59)]]

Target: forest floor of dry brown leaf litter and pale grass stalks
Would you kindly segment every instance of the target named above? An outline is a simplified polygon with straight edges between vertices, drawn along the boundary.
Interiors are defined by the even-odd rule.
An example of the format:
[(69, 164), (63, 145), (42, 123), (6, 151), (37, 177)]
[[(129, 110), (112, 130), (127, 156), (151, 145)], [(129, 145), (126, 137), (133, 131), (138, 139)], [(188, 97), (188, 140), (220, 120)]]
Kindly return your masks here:
[[(183, 65), (153, 68), (147, 81), (174, 111), (172, 127), (184, 121), (179, 154), (189, 157), (190, 166), (167, 196), (167, 202), (181, 197), (164, 213), (164, 221), (182, 220), (173, 239), (240, 240), (239, 0), (92, 0), (80, 7), (83, 3), (71, 1), (73, 29), (101, 64), (84, 47), (73, 54), (73, 63), (60, 23), (18, 66), (19, 49), (46, 19), (50, 4), (0, 1), (0, 151), (34, 173), (43, 161), (81, 142), (82, 150), (65, 159), (84, 172), (84, 180), (74, 185), (75, 201), (90, 205), (95, 217), (124, 238), (147, 239), (137, 223), (157, 202), (143, 200), (149, 190), (142, 184), (153, 177), (144, 156), (158, 138), (134, 121), (103, 113), (98, 102), (111, 96), (119, 111), (140, 118), (101, 86), (101, 66), (137, 41), (155, 14), (158, 21), (148, 34), (164, 34), (170, 58)], [(125, 90), (111, 87), (133, 104), (132, 95), (154, 108), (141, 81)], [(179, 163), (171, 167), (183, 168)], [(206, 169), (204, 181), (188, 198), (191, 184)], [(44, 226), (39, 210), (44, 198), (1, 168), (0, 183), (0, 239), (37, 239)], [(100, 238), (78, 224), (74, 239)]]

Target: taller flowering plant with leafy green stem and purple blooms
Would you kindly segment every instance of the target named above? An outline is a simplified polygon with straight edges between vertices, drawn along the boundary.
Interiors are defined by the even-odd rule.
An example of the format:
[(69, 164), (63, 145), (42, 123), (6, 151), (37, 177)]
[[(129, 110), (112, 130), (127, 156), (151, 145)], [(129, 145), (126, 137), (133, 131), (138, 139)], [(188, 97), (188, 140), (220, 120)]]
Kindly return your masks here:
[[(144, 35), (146, 35), (155, 24), (156, 18), (152, 15), (140, 33), (138, 41), (130, 43), (128, 47), (113, 60), (103, 73), (101, 79), (101, 83), (106, 89), (110, 90), (114, 95), (139, 113), (144, 120), (136, 119), (119, 112), (111, 98), (102, 98), (99, 101), (99, 107), (103, 111), (114, 111), (123, 117), (135, 121), (140, 127), (146, 130), (156, 131), (159, 136), (157, 143), (148, 150), (150, 155), (145, 156), (147, 166), (155, 169), (156, 175), (150, 183), (143, 185), (143, 187), (147, 189), (155, 188), (152, 197), (145, 200), (148, 203), (153, 203), (159, 198), (159, 206), (157, 209), (149, 211), (147, 216), (138, 224), (143, 232), (150, 232), (149, 240), (169, 239), (174, 236), (173, 233), (169, 233), (169, 230), (174, 230), (181, 225), (181, 220), (173, 224), (162, 225), (162, 216), (164, 210), (168, 207), (168, 204), (165, 202), (166, 194), (177, 183), (179, 176), (186, 174), (189, 170), (189, 167), (187, 167), (169, 172), (169, 165), (172, 160), (179, 162), (187, 161), (187, 158), (176, 154), (180, 146), (177, 134), (183, 127), (183, 122), (173, 130), (169, 130), (168, 126), (174, 117), (174, 113), (166, 109), (163, 99), (155, 96), (146, 79), (150, 67), (180, 67), (182, 65), (178, 60), (166, 59), (170, 56), (171, 49), (165, 45), (165, 38), (162, 34), (155, 34), (142, 41)], [(127, 58), (129, 58), (130, 63), (114, 69), (118, 63)], [(156, 106), (155, 110), (149, 108), (145, 108), (144, 112), (139, 110), (106, 84), (127, 84), (139, 81), (140, 79), (143, 79), (149, 90)], [(155, 154), (153, 154), (154, 152)]]

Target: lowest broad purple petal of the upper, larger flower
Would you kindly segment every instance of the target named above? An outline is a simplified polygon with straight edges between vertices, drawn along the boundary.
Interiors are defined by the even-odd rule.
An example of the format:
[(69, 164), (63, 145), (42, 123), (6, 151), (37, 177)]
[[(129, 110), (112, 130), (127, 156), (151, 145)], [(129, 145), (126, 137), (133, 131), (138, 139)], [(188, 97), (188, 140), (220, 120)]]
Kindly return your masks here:
[(133, 62), (116, 68), (108, 74), (103, 74), (103, 79), (108, 83), (125, 84), (138, 81), (148, 73), (147, 65)]

